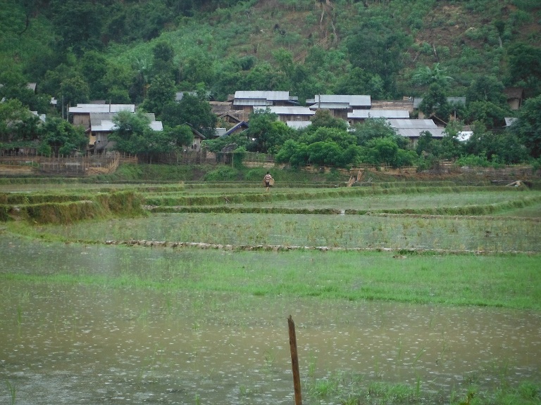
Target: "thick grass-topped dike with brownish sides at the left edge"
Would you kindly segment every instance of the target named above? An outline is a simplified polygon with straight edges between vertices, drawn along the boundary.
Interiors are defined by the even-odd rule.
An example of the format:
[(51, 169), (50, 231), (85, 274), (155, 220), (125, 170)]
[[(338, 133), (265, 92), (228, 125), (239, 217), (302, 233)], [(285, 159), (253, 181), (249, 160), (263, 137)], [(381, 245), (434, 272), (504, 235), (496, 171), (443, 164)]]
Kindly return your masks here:
[[(93, 195), (0, 195), (0, 221), (71, 224), (84, 219), (144, 215), (142, 200), (133, 191)], [(37, 203), (36, 201), (43, 200)], [(20, 201), (20, 202), (19, 202)], [(4, 203), (6, 202), (6, 203)]]

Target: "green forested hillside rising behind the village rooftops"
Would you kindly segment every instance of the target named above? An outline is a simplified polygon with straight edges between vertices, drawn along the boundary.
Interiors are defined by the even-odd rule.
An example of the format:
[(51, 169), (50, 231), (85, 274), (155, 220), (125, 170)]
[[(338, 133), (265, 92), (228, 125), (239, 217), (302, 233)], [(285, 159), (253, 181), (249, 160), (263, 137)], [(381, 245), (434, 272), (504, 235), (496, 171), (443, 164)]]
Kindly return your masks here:
[(1, 96), (39, 113), (51, 96), (161, 117), (175, 91), (287, 90), (424, 96), (448, 117), (440, 101), (466, 96), (459, 120), (492, 129), (504, 88), (541, 94), (538, 0), (0, 0), (0, 32)]

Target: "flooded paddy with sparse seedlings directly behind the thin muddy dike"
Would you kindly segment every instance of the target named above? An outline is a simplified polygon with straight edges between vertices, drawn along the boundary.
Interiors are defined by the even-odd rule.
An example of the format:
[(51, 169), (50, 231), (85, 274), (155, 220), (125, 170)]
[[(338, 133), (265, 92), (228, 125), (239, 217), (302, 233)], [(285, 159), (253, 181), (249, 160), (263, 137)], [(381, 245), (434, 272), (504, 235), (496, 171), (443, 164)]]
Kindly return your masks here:
[(158, 240), (232, 245), (540, 252), (540, 222), (527, 218), (378, 217), (320, 214), (153, 214), (107, 224), (42, 226), (70, 240)]

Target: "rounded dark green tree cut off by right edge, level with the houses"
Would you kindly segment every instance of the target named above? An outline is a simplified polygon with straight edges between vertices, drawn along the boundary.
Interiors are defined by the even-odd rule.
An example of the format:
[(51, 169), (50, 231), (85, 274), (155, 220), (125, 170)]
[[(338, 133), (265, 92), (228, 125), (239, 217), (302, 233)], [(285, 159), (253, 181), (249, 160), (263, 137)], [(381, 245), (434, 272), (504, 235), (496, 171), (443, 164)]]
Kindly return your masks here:
[(510, 131), (528, 148), (530, 156), (541, 157), (541, 96), (526, 100)]

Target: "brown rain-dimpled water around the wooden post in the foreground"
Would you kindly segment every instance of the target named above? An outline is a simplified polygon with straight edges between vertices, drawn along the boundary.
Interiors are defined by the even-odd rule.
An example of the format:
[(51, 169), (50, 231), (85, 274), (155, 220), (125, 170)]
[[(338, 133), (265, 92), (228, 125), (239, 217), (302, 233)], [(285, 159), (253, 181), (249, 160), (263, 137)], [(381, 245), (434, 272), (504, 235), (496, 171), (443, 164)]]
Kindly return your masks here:
[[(122, 262), (116, 249), (91, 250), (101, 266), (40, 246), (38, 261), (13, 245), (0, 253), (15, 273), (63, 261), (114, 273)], [(335, 371), (447, 397), (468, 383), (541, 380), (541, 314), (526, 311), (23, 281), (2, 281), (0, 294), (0, 379), (16, 404), (291, 404), (290, 314), (304, 387)], [(3, 383), (0, 404), (9, 400)]]

